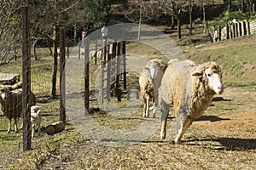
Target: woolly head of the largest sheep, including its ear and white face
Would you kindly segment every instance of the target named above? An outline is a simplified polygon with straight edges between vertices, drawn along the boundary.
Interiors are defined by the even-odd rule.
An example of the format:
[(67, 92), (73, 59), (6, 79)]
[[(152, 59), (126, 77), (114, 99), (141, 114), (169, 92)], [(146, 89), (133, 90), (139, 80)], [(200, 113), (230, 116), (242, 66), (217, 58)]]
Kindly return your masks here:
[(222, 82), (222, 72), (215, 62), (208, 63), (201, 68), (201, 71), (195, 71), (192, 76), (205, 77), (208, 87), (211, 88), (215, 94), (222, 94), (224, 92), (224, 85)]

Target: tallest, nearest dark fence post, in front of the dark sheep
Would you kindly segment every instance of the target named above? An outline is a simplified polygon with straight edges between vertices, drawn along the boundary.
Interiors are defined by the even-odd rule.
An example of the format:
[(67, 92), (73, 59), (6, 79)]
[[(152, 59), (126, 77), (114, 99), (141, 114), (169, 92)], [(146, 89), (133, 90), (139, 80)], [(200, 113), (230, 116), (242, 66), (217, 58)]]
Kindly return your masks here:
[(23, 151), (31, 150), (31, 112), (29, 97), (31, 94), (31, 47), (30, 47), (30, 19), (29, 8), (22, 10), (22, 115), (23, 115)]

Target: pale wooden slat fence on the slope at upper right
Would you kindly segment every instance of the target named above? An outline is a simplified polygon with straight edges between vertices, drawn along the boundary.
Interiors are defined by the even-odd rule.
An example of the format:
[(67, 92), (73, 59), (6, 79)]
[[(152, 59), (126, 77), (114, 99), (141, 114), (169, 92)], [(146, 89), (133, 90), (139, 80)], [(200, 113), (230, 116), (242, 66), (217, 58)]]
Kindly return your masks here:
[(230, 22), (213, 33), (213, 42), (250, 35), (256, 32), (256, 21)]

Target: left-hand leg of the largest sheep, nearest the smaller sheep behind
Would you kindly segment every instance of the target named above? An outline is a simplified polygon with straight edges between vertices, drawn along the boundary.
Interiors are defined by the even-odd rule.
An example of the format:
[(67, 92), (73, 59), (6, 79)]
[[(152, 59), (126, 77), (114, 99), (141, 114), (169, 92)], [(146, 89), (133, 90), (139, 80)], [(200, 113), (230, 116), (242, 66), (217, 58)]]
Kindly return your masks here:
[(167, 123), (167, 117), (169, 113), (169, 105), (167, 105), (165, 102), (162, 102), (160, 105), (160, 112), (161, 112), (161, 133), (160, 133), (160, 139), (166, 139), (166, 123)]

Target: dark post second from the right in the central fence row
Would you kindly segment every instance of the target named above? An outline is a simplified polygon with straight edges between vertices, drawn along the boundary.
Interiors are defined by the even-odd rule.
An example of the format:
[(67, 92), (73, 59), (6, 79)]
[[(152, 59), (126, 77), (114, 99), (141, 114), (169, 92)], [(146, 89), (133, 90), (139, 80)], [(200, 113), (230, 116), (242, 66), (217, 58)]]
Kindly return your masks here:
[(116, 56), (116, 75), (115, 75), (115, 95), (118, 101), (121, 101), (121, 93), (119, 89), (119, 75), (120, 75), (120, 53), (121, 52), (121, 43), (118, 42), (118, 54)]

